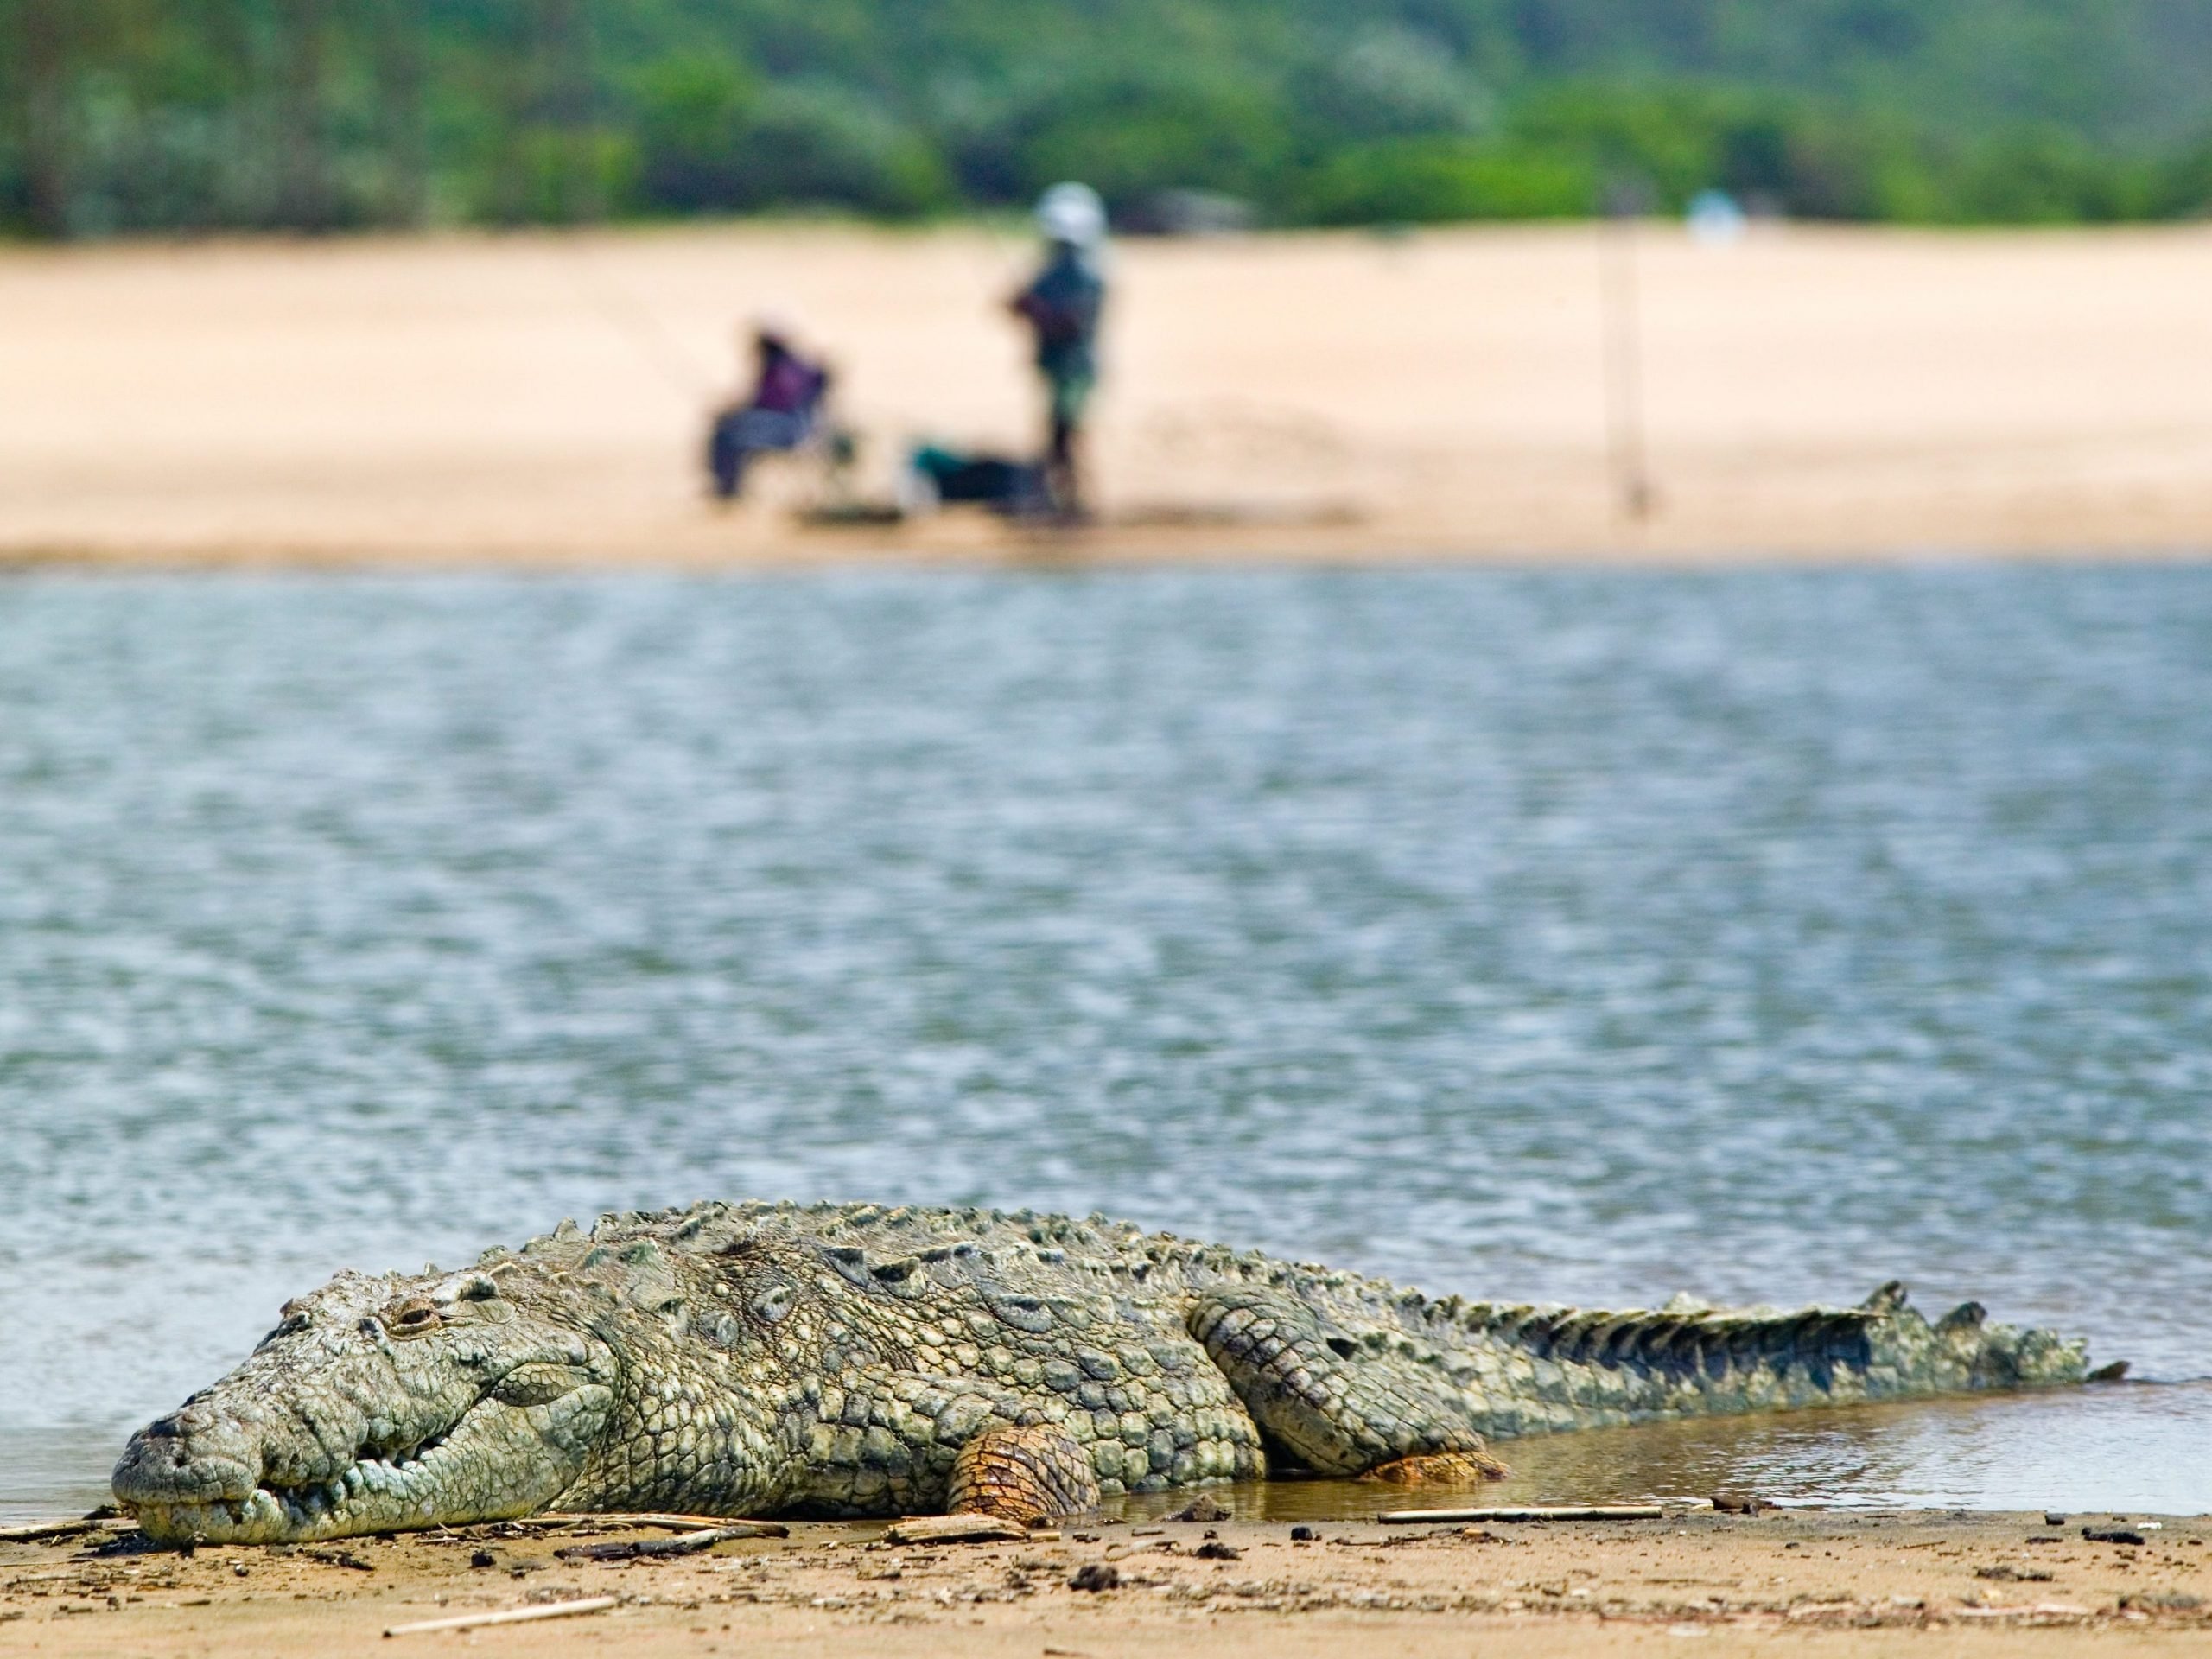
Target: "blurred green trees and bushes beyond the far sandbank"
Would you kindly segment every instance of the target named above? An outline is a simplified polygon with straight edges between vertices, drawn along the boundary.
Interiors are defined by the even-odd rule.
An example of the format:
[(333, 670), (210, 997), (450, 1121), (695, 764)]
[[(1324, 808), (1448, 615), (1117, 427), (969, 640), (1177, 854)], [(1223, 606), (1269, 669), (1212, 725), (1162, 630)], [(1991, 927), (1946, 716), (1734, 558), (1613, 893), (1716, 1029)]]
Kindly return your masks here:
[(2203, 0), (0, 0), (0, 226), (2212, 210)]

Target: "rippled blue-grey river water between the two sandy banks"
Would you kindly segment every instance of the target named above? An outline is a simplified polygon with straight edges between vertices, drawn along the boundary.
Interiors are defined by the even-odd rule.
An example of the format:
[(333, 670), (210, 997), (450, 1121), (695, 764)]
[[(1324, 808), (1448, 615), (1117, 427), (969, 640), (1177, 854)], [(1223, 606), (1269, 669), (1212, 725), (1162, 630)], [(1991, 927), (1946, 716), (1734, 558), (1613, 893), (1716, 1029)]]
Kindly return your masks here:
[(0, 582), (0, 1515), (343, 1265), (699, 1197), (2150, 1385), (1515, 1491), (2212, 1509), (2212, 568)]

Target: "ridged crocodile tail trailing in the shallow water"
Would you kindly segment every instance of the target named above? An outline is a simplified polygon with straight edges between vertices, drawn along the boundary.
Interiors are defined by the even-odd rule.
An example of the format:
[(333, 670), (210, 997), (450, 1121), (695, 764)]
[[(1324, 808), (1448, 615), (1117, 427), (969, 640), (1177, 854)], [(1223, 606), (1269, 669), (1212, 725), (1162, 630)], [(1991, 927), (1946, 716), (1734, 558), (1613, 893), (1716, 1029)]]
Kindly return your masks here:
[(1991, 1325), (1978, 1303), (1931, 1323), (1898, 1283), (1858, 1307), (1475, 1305), (1460, 1325), (1495, 1433), (2053, 1387), (2088, 1371), (2077, 1340)]

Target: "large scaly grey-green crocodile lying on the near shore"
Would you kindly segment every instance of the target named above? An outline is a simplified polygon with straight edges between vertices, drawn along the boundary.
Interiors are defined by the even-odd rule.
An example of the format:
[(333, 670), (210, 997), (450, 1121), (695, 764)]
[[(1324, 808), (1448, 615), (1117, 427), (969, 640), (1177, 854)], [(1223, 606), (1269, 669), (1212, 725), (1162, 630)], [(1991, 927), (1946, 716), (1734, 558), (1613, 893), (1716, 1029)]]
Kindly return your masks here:
[[(2117, 1367), (2115, 1367), (2117, 1369)], [(1091, 1217), (701, 1203), (460, 1272), (343, 1272), (131, 1438), (155, 1542), (544, 1509), (1013, 1520), (1312, 1471), (1504, 1473), (1491, 1440), (2081, 1383), (2084, 1343), (1856, 1307), (1588, 1312)]]

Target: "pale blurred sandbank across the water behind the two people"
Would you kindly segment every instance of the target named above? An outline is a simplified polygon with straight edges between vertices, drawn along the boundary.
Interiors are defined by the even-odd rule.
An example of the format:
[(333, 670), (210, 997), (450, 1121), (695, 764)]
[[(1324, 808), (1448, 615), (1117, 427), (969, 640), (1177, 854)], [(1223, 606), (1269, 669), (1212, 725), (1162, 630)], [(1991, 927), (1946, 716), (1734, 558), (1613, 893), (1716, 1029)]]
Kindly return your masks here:
[(0, 252), (0, 557), (723, 566), (2212, 549), (2212, 230), (1639, 232), (1659, 509), (1608, 489), (1601, 234), (1117, 250), (1108, 524), (714, 513), (734, 321), (794, 312), (887, 489), (1033, 422), (982, 230), (734, 226)]

